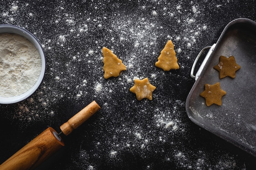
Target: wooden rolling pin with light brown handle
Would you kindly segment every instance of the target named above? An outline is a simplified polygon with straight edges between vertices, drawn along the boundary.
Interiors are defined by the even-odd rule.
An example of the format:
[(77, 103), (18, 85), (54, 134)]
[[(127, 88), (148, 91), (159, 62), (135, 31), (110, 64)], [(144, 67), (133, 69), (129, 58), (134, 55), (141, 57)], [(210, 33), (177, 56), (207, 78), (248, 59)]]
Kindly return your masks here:
[[(99, 109), (100, 106), (93, 101), (66, 123), (61, 125), (61, 133), (69, 135)], [(4, 163), (0, 165), (0, 170), (32, 170), (36, 168), (40, 163), (64, 146), (59, 136), (61, 133), (58, 134), (51, 127), (47, 128), (9, 159), (4, 161)]]

